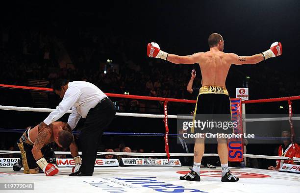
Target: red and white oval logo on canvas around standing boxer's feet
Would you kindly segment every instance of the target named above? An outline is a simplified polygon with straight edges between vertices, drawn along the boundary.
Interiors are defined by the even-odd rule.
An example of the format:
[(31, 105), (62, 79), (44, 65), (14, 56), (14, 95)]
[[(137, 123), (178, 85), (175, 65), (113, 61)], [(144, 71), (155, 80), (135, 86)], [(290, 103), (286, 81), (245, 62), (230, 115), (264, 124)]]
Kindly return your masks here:
[[(177, 171), (176, 173), (187, 174), (190, 171)], [(260, 173), (249, 173), (249, 172), (238, 172), (231, 171), (231, 173), (239, 178), (268, 178), (270, 175), (260, 174)], [(200, 171), (200, 176), (208, 176), (208, 177), (222, 177), (222, 171)]]

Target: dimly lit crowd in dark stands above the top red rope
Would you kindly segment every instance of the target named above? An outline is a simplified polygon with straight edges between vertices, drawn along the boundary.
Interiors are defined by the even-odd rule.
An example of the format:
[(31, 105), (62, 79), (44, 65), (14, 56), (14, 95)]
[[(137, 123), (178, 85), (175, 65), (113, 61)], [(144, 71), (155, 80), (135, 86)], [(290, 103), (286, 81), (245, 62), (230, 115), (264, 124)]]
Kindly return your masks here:
[[(51, 82), (61, 77), (92, 82), (106, 93), (190, 98), (186, 85), (190, 71), (196, 69), (199, 78), (195, 84), (200, 85), (197, 65), (149, 59), (146, 48), (135, 49), (137, 42), (122, 37), (97, 35), (97, 31), (90, 29), (72, 32), (65, 29), (65, 35), (34, 29), (14, 30), (7, 28), (1, 33), (1, 83), (26, 85), (28, 79)], [(244, 70), (232, 67), (226, 87), (232, 96), (235, 88), (249, 87), (251, 99), (293, 96), (300, 92), (296, 73), (297, 70), (284, 73), (264, 64), (247, 66)]]

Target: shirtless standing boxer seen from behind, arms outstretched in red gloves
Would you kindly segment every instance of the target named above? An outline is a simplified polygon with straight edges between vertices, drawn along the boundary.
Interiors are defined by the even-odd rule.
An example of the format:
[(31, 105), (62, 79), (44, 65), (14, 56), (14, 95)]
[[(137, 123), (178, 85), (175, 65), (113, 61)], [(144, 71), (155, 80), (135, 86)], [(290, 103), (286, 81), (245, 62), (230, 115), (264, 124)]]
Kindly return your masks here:
[[(224, 40), (218, 33), (213, 33), (208, 37), (210, 50), (199, 52), (189, 56), (178, 56), (160, 50), (158, 44), (152, 42), (147, 46), (149, 57), (161, 58), (175, 64), (195, 64), (199, 63), (202, 74), (202, 87), (197, 97), (194, 112), (196, 114), (224, 114), (230, 115), (230, 98), (225, 88), (225, 80), (231, 64), (256, 64), (271, 57), (282, 54), (281, 43), (275, 42), (271, 48), (252, 56), (238, 56), (234, 53), (224, 53)], [(194, 129), (194, 128), (192, 128)], [(209, 129), (209, 130), (208, 130)], [(200, 133), (232, 133), (230, 129), (205, 128), (197, 131)], [(196, 138), (194, 147), (194, 166), (191, 172), (181, 176), (181, 180), (200, 181), (200, 164), (204, 153), (205, 138)], [(236, 182), (239, 178), (233, 176), (228, 170), (228, 150), (227, 139), (217, 138), (218, 154), (222, 166), (222, 182)]]

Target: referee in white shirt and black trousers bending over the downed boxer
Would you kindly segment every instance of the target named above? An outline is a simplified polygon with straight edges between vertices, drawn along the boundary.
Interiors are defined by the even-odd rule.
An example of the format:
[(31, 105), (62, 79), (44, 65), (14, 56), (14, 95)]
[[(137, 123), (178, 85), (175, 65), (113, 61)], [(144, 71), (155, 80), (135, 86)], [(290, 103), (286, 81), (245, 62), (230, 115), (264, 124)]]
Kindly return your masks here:
[(113, 102), (94, 84), (85, 81), (69, 82), (57, 79), (53, 89), (62, 101), (49, 116), (39, 124), (39, 131), (61, 118), (69, 109), (68, 124), (75, 128), (79, 119), (86, 118), (79, 134), (82, 148), (82, 165), (70, 176), (92, 176), (97, 155), (98, 139), (113, 120), (116, 110)]

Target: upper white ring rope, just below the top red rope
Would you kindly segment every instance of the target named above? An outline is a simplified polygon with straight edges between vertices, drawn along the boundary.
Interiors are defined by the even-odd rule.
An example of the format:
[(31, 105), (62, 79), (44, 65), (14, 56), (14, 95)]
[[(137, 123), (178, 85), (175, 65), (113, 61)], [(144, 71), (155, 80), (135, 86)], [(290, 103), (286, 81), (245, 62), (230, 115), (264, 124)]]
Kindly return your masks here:
[[(0, 105), (0, 110), (11, 110), (11, 111), (33, 111), (33, 112), (48, 112), (51, 113), (55, 109), (49, 108), (34, 108), (34, 107), (17, 107), (17, 106), (2, 106)], [(71, 113), (69, 110), (67, 113)], [(155, 115), (155, 114), (143, 114), (143, 113), (116, 113), (117, 116), (127, 116), (127, 117), (146, 117), (146, 118), (164, 118), (165, 115)], [(168, 115), (169, 119), (193, 119), (192, 116), (177, 116)], [(259, 118), (259, 119), (243, 119), (246, 122), (252, 121), (288, 121), (288, 117), (284, 118)], [(292, 120), (299, 121), (300, 117), (292, 117)]]

